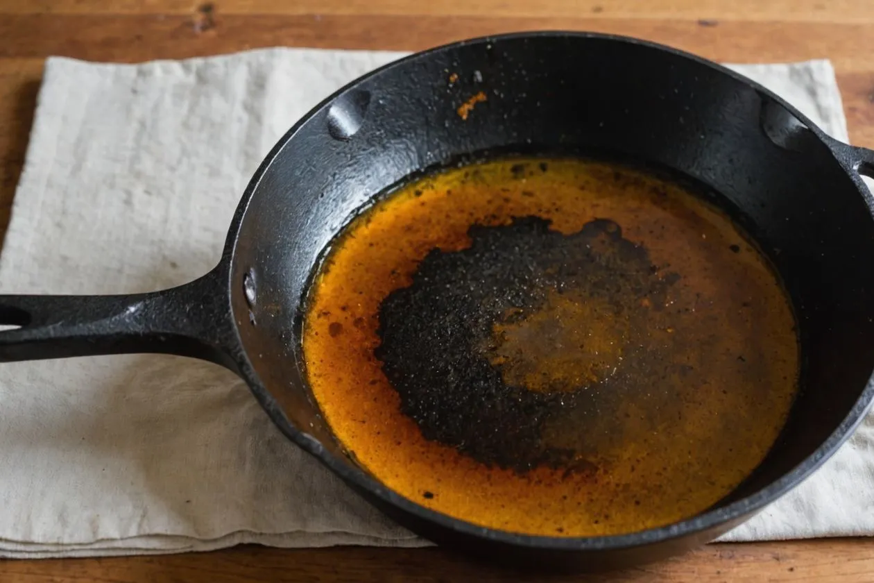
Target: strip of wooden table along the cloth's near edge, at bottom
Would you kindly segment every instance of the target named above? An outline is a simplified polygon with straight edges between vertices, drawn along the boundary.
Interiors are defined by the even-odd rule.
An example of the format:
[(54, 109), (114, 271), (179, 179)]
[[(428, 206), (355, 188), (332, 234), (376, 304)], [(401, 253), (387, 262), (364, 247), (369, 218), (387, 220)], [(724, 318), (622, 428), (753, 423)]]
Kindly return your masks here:
[(101, 581), (233, 583), (236, 581), (586, 581), (586, 583), (772, 583), (840, 581), (871, 583), (874, 541), (836, 539), (709, 545), (657, 565), (580, 576), (517, 573), (475, 564), (440, 549), (281, 550), (244, 546), (218, 552), (127, 557), (0, 562), (0, 580), (10, 583)]

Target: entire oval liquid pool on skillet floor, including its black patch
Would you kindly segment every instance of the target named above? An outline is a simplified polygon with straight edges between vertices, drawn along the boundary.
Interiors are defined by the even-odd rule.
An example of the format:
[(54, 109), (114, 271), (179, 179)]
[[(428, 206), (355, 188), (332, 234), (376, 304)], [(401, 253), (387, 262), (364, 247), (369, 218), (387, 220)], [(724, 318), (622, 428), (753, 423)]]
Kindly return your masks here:
[(304, 320), (337, 439), (399, 494), (547, 536), (707, 509), (797, 386), (794, 318), (721, 212), (638, 170), (514, 159), (352, 221)]

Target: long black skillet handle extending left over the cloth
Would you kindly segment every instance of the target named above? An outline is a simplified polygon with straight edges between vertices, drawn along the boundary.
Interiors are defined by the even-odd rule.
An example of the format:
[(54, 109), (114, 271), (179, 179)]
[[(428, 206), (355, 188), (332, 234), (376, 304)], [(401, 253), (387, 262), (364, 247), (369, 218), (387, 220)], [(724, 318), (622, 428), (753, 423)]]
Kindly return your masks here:
[(0, 362), (153, 352), (236, 370), (223, 273), (149, 294), (0, 295), (0, 324), (18, 327), (0, 331)]

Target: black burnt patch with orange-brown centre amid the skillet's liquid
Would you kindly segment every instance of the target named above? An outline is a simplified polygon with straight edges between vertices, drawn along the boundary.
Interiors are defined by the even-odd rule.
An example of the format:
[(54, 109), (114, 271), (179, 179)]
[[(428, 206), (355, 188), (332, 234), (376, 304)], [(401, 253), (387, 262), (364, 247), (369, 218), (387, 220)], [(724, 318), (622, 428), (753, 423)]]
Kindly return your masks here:
[(676, 274), (654, 270), (612, 220), (567, 235), (549, 226), (472, 226), (467, 249), (428, 253), (382, 302), (375, 355), (427, 439), (520, 472), (591, 471), (556, 424), (577, 431)]

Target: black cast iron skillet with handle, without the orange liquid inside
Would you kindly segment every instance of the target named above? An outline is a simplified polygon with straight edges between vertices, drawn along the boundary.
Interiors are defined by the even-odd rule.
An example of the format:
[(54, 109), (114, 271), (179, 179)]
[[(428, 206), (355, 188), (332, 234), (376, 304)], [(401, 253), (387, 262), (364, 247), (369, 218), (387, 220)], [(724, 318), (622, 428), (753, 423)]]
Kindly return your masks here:
[[(488, 101), (462, 120), (456, 108), (478, 91)], [(405, 177), (508, 151), (675, 170), (718, 192), (771, 256), (799, 321), (803, 386), (765, 462), (711, 510), (611, 537), (489, 530), (385, 489), (319, 416), (302, 378), (302, 300), (331, 238)], [(218, 267), (197, 281), (142, 295), (0, 297), (0, 323), (20, 326), (0, 333), (0, 360), (161, 352), (223, 364), (289, 440), (426, 538), (502, 562), (630, 566), (741, 523), (863, 419), (874, 396), (874, 220), (859, 176), (868, 171), (874, 152), (836, 142), (759, 85), (683, 52), (567, 32), (456, 43), (364, 76), (291, 128), (246, 188)]]

